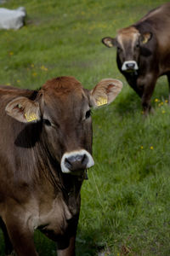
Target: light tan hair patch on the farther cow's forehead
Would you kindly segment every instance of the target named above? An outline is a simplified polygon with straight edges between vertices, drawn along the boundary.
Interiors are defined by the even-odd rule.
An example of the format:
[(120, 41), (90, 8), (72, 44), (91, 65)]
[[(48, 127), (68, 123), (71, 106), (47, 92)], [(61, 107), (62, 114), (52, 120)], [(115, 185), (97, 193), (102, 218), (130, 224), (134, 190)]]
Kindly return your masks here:
[(131, 41), (131, 44), (136, 42), (137, 38), (139, 38), (139, 31), (134, 26), (128, 26), (126, 28), (122, 28), (117, 32), (117, 42), (122, 45), (124, 48), (124, 44)]

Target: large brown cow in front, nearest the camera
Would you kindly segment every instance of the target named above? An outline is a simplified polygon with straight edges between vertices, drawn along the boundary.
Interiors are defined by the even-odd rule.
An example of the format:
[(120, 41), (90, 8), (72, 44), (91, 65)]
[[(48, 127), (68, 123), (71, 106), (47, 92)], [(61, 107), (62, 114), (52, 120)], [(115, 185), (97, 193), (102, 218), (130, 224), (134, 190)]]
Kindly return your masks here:
[(36, 256), (35, 229), (75, 255), (80, 189), (92, 157), (91, 107), (111, 103), (122, 82), (94, 90), (76, 79), (49, 80), (41, 90), (0, 87), (0, 219), (6, 254)]

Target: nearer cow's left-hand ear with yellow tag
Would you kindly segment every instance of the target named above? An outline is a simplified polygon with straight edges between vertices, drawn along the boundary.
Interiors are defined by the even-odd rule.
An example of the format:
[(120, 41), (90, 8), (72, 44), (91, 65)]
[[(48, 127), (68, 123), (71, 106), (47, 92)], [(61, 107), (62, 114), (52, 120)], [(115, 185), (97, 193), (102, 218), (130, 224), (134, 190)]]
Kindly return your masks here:
[(23, 96), (8, 102), (5, 111), (9, 116), (22, 123), (37, 121), (41, 118), (39, 103)]

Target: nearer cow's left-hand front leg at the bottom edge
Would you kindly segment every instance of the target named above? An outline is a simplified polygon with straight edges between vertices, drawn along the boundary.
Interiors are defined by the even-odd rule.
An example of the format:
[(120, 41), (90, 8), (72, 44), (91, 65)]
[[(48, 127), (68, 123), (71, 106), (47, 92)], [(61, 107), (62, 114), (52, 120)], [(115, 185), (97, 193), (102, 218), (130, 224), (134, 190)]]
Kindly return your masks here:
[[(20, 221), (17, 218), (20, 218)], [(17, 256), (37, 256), (33, 241), (33, 230), (27, 224), (24, 216), (17, 216), (17, 218), (8, 214), (4, 219), (14, 252), (17, 253)]]

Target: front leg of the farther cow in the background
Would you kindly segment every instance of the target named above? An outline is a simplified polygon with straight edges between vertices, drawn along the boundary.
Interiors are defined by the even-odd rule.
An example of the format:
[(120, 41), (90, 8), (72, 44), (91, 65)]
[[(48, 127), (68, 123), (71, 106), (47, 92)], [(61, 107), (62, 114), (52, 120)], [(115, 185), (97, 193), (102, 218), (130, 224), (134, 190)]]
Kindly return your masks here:
[(142, 99), (142, 108), (144, 115), (147, 115), (152, 111), (150, 105), (150, 98), (153, 94), (154, 88), (156, 86), (156, 77), (153, 74), (148, 74), (144, 78), (138, 79), (138, 87), (143, 88)]

